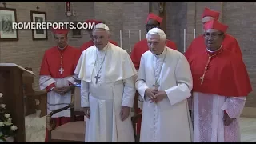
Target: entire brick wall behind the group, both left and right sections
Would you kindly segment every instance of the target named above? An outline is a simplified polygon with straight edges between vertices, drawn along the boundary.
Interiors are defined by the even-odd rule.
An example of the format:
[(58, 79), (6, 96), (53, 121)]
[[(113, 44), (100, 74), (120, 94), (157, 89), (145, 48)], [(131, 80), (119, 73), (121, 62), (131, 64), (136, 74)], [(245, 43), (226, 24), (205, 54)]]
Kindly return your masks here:
[[(18, 22), (30, 22), (30, 10), (46, 11), (48, 21), (84, 21), (89, 18), (98, 18), (106, 22), (112, 32), (112, 38), (120, 45), (119, 32), (122, 30), (122, 48), (129, 52), (129, 30), (131, 31), (131, 49), (139, 40), (138, 30), (142, 30), (145, 38), (145, 20), (149, 12), (149, 2), (71, 2), (75, 17), (67, 18), (64, 2), (7, 2), (7, 7), (17, 9)], [(222, 22), (230, 26), (228, 33), (234, 35), (242, 49), (243, 59), (250, 74), (250, 81), (256, 85), (256, 57), (254, 46), (256, 18), (254, 11), (256, 2), (167, 2), (166, 34), (167, 38), (178, 45), (183, 51), (183, 30), (186, 28), (186, 47), (196, 35), (202, 33), (201, 14), (204, 7), (221, 11)], [(34, 88), (38, 89), (38, 70), (42, 61), (43, 52), (54, 46), (52, 34), (48, 32), (48, 41), (32, 41), (31, 30), (19, 30), (18, 42), (0, 43), (0, 62), (14, 62), (21, 66), (33, 68), (37, 77), (34, 78)], [(69, 38), (72, 46), (79, 47), (90, 40), (86, 31), (82, 38)], [(18, 53), (17, 53), (18, 51)], [(250, 94), (246, 106), (256, 106)]]

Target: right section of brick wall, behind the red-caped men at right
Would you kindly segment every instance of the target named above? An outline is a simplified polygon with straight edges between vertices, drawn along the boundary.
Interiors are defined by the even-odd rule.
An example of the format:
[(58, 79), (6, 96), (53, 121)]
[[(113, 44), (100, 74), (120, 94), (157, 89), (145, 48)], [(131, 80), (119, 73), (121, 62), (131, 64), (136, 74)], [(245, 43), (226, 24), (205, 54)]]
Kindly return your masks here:
[[(174, 3), (174, 2), (171, 2)], [(191, 35), (192, 29), (196, 28), (196, 35), (202, 34), (201, 15), (205, 7), (221, 12), (219, 20), (229, 26), (228, 34), (237, 38), (242, 50), (243, 60), (250, 74), (250, 82), (253, 90), (256, 86), (256, 45), (255, 8), (256, 2), (186, 2), (187, 3), (187, 39), (186, 46), (190, 44), (194, 36)], [(175, 4), (174, 4), (175, 5)], [(174, 17), (178, 17), (174, 15)], [(180, 18), (178, 18), (180, 19)], [(256, 107), (255, 90), (247, 98), (247, 107)]]

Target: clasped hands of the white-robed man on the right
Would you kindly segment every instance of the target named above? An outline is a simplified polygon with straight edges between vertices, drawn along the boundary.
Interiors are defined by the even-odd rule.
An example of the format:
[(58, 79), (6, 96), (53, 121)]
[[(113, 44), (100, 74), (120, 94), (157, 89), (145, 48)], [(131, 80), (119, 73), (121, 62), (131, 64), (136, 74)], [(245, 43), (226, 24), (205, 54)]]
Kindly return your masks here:
[(150, 103), (158, 103), (162, 101), (163, 98), (167, 97), (167, 94), (165, 91), (158, 90), (158, 89), (146, 89), (145, 95), (147, 98), (150, 98)]

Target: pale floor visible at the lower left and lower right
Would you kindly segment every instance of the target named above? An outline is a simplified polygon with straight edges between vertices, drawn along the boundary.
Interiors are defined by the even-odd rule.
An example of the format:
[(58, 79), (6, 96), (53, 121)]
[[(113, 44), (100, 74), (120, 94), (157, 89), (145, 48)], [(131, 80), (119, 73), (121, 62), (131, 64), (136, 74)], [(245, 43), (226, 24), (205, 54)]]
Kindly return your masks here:
[[(26, 117), (26, 142), (44, 142), (46, 117), (35, 114)], [(256, 142), (256, 118), (241, 118), (242, 142)]]

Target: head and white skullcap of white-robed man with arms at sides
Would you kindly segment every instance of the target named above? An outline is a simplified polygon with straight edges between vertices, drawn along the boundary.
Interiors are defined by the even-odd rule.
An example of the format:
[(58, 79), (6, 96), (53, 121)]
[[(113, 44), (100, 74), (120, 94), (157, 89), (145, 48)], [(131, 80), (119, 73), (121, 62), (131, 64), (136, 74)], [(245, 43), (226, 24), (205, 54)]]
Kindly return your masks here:
[(99, 23), (95, 26), (93, 30), (93, 38), (94, 38), (94, 45), (99, 49), (102, 50), (110, 39), (110, 29), (106, 24)]

